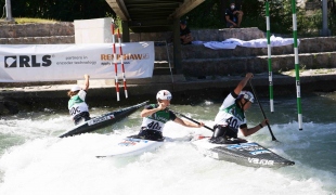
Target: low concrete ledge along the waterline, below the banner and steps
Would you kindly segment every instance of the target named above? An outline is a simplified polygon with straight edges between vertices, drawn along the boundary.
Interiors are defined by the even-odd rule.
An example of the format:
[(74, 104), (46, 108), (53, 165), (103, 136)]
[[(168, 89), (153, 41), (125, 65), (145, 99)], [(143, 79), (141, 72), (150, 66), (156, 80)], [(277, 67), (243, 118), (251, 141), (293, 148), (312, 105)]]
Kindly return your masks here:
[[(176, 81), (176, 82), (147, 82), (139, 84), (127, 84), (129, 96), (132, 95), (153, 95), (158, 90), (167, 89), (171, 92), (184, 93), (203, 93), (204, 91), (230, 91), (232, 90), (242, 76), (221, 77), (221, 78), (205, 78)], [(296, 78), (288, 75), (273, 75), (274, 93), (288, 94), (296, 93)], [(302, 92), (311, 93), (315, 91), (332, 92), (336, 91), (336, 73), (332, 74), (305, 74), (299, 77), (300, 89)], [(269, 77), (267, 74), (255, 75), (251, 83), (262, 91), (268, 91)], [(20, 88), (1, 88), (0, 96), (11, 99), (62, 99), (66, 98), (67, 91), (74, 84), (47, 84), (47, 86), (29, 86)], [(248, 88), (248, 87), (247, 87)], [(120, 96), (125, 95), (125, 88), (119, 86)], [(90, 84), (90, 94), (99, 96), (116, 98), (116, 89), (114, 84)]]

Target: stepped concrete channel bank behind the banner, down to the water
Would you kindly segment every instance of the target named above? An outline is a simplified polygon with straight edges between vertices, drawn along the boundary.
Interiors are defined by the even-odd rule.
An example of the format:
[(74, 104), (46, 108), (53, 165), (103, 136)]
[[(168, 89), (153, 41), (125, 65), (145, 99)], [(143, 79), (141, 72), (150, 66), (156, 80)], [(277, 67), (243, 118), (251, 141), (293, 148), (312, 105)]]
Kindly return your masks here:
[[(25, 25), (0, 24), (0, 44), (75, 43), (73, 23)], [(237, 38), (241, 40), (264, 38), (264, 32), (258, 28), (192, 29), (192, 34), (194, 39), (198, 41), (222, 41), (228, 38)], [(172, 60), (173, 46), (171, 43), (171, 32), (131, 34), (130, 39), (131, 41), (155, 41), (155, 61), (157, 62), (155, 68), (160, 67), (161, 64), (167, 67), (168, 58)], [(336, 37), (299, 38), (299, 64), (301, 69), (335, 69)], [(168, 42), (169, 55), (167, 55), (166, 42)], [(218, 95), (219, 91), (232, 89), (242, 79), (241, 75), (246, 72), (251, 72), (256, 75), (254, 83), (259, 93), (262, 91), (267, 93), (269, 87), (267, 52), (267, 48), (237, 47), (234, 50), (211, 50), (205, 48), (203, 44), (182, 46), (181, 55), (183, 75), (175, 75), (177, 77), (183, 77), (181, 78), (182, 81), (175, 79), (175, 82), (172, 83), (170, 75), (158, 75), (153, 78), (137, 79), (137, 81), (140, 81), (135, 84), (131, 84), (131, 82), (129, 82), (130, 80), (128, 80), (128, 83), (130, 83), (128, 86), (129, 94), (133, 98), (139, 98), (144, 94), (151, 94), (151, 96), (153, 96), (157, 90), (167, 89), (172, 91), (175, 96), (181, 96), (181, 99), (183, 98), (185, 100), (192, 94), (195, 94), (196, 96), (207, 94)], [(293, 70), (295, 68), (293, 53), (293, 46), (272, 48), (273, 73)], [(173, 66), (172, 62), (171, 65)], [(228, 77), (229, 75), (230, 77)], [(327, 73), (327, 75), (303, 76), (300, 80), (302, 87), (301, 92), (336, 90), (335, 84), (331, 84), (335, 81), (335, 75), (336, 73)], [(197, 79), (197, 77), (215, 78), (215, 76), (224, 77), (219, 79)], [(274, 74), (273, 81), (277, 89), (275, 92), (284, 94), (287, 91), (290, 91), (290, 93), (295, 94), (295, 92), (293, 92), (293, 90), (295, 90), (294, 83), (296, 83), (295, 77)], [(2, 113), (17, 113), (20, 109), (20, 104), (17, 103), (18, 100), (23, 100), (24, 104), (28, 103), (29, 105), (36, 105), (36, 103), (39, 102), (36, 100), (41, 99), (47, 100), (47, 102), (57, 102), (50, 101), (50, 99), (65, 100), (66, 91), (69, 89), (69, 86), (74, 83), (77, 83), (77, 80), (60, 82), (0, 83), (0, 115)], [(100, 102), (98, 100), (107, 99), (106, 94), (108, 94), (108, 102), (111, 102), (111, 95), (113, 94), (111, 88), (114, 88), (114, 86), (108, 86), (106, 83), (101, 86), (92, 84), (90, 95), (94, 96), (95, 102)], [(199, 94), (201, 89), (203, 90), (202, 94)], [(186, 93), (185, 91), (189, 92)], [(262, 93), (260, 94), (262, 95)]]

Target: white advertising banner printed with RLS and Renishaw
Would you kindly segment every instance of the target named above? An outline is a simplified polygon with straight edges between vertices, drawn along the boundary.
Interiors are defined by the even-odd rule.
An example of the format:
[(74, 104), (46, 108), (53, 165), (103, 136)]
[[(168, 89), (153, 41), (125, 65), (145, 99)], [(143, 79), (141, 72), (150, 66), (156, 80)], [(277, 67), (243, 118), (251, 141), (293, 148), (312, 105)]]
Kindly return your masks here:
[(146, 78), (153, 76), (154, 42), (116, 43), (116, 58), (112, 43), (94, 44), (0, 44), (0, 82), (80, 80), (85, 74), (91, 79)]

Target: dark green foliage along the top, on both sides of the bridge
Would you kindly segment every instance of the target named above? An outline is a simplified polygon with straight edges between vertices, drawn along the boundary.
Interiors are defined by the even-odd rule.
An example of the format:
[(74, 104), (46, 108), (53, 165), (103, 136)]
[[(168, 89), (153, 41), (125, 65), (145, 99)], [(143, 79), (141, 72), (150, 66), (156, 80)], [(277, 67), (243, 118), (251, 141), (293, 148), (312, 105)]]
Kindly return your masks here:
[[(225, 9), (231, 2), (241, 4), (244, 12), (242, 27), (258, 27), (266, 31), (267, 0), (205, 0), (181, 18), (188, 18), (189, 27), (193, 29), (224, 28)], [(3, 8), (5, 0), (0, 0)], [(118, 27), (120, 18), (109, 8), (105, 0), (12, 0), (13, 17), (48, 18), (63, 22), (99, 17), (113, 17)], [(269, 0), (271, 34), (293, 32), (292, 0)], [(335, 0), (328, 5), (328, 28), (336, 31)], [(306, 10), (296, 8), (297, 29), (300, 36), (319, 36), (322, 28), (322, 12), (316, 10), (307, 15)]]

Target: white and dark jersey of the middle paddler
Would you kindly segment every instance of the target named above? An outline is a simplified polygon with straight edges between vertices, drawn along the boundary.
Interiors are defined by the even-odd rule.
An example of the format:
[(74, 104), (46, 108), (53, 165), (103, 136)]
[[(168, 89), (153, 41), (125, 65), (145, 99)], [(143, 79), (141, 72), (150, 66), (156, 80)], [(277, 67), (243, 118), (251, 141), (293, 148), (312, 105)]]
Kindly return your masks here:
[[(154, 109), (157, 108), (158, 104), (150, 104), (145, 108), (146, 109)], [(144, 117), (142, 120), (142, 128), (146, 128), (150, 130), (156, 130), (163, 132), (163, 129), (165, 127), (165, 123), (169, 120), (175, 120), (177, 116), (168, 109), (159, 110), (154, 113), (153, 115), (150, 115), (147, 117)]]

